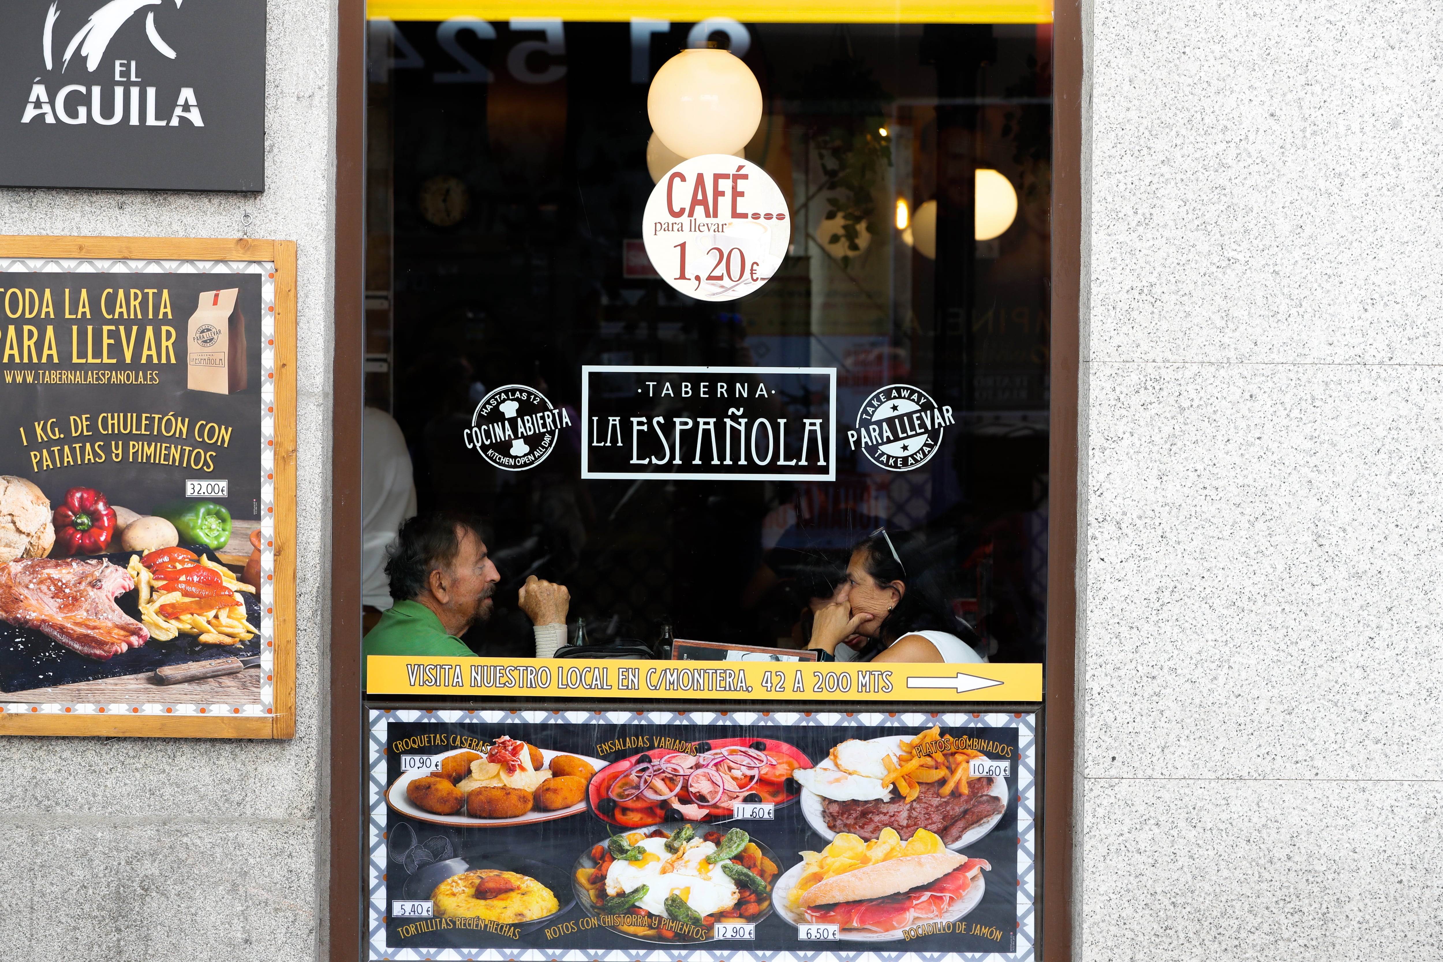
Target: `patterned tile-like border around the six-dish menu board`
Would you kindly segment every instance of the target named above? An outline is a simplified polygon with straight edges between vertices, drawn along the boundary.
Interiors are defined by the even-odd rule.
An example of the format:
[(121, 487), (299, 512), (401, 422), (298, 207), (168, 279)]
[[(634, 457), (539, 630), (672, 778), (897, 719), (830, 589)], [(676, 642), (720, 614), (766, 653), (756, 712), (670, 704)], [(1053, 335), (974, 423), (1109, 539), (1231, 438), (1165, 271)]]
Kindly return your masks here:
[[(665, 725), (665, 724), (713, 724), (713, 725), (823, 725), (846, 728), (856, 725), (886, 728), (925, 728), (942, 724), (948, 728), (1017, 728), (1017, 950), (1001, 952), (769, 952), (765, 949), (722, 949), (691, 950), (551, 950), (519, 949), (388, 949), (385, 945), (385, 743), (387, 724), (395, 721), (504, 721), (518, 717), (532, 724), (605, 724)], [(1038, 873), (1036, 873), (1036, 812), (1038, 812), (1038, 718), (1032, 714), (941, 714), (898, 712), (753, 712), (737, 711), (720, 714), (716, 711), (688, 711), (684, 715), (674, 711), (421, 711), (414, 708), (369, 711), (368, 741), (368, 803), (369, 834), (367, 837), (368, 858), (368, 939), (372, 962), (421, 962), (423, 959), (476, 961), (476, 962), (1032, 962), (1038, 958)], [(898, 945), (906, 945), (900, 942)]]

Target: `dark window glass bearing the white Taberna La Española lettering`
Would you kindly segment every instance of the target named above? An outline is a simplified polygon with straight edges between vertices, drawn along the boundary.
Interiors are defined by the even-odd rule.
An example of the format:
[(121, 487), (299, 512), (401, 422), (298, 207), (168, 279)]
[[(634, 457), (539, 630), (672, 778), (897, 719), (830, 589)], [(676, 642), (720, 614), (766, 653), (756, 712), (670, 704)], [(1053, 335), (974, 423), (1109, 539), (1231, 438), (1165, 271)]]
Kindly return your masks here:
[[(791, 216), (773, 277), (724, 301), (668, 284), (644, 244), (654, 185), (680, 163), (649, 143), (648, 91), (707, 45), (760, 87), (739, 156)], [(388, 525), (463, 511), (501, 577), (463, 636), (478, 655), (534, 653), (530, 575), (567, 587), (571, 640), (584, 620), (592, 643), (805, 648), (880, 528), (977, 656), (1042, 661), (1049, 23), (374, 19), (369, 81), (368, 604), (388, 607)], [(706, 381), (732, 394), (683, 397)], [(522, 469), (469, 433), (505, 385), (557, 412)], [(898, 385), (880, 400), (919, 412), (912, 436), (874, 437), (874, 395)], [(743, 431), (723, 437), (737, 389), (753, 434), (768, 423), (762, 453), (786, 421), (745, 480), (693, 467), (740, 447)], [(709, 414), (714, 440), (693, 424)], [(778, 467), (804, 444), (831, 463)]]

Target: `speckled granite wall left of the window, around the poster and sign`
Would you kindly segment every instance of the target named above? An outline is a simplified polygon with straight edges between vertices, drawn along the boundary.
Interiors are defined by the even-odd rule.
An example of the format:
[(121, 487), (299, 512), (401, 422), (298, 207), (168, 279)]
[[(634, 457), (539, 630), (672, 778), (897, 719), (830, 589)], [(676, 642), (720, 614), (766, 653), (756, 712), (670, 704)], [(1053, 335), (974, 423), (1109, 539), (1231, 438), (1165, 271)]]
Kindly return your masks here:
[(267, 9), (264, 193), (0, 189), (0, 232), (299, 247), (294, 741), (0, 738), (0, 959), (317, 958), (325, 913), (335, 4)]

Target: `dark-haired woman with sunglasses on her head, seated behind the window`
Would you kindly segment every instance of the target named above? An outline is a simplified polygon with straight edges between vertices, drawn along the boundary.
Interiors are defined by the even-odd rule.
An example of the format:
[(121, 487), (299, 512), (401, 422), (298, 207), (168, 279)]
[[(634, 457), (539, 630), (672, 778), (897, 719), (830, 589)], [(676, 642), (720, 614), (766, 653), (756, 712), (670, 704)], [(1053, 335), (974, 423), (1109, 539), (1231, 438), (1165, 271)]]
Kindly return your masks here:
[(877, 528), (851, 550), (846, 581), (812, 619), (807, 648), (817, 650), (821, 661), (835, 661), (837, 646), (860, 635), (872, 640), (859, 661), (986, 661), (954, 633), (957, 629), (975, 637), (926, 591), (908, 586), (906, 567), (892, 538)]

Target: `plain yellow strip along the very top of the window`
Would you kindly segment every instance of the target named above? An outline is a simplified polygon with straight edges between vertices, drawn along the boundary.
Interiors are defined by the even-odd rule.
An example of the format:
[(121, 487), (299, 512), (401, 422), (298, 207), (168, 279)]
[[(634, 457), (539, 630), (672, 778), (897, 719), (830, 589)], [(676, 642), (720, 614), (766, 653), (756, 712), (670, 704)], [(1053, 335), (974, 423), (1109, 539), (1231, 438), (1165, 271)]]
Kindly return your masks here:
[(635, 3), (553, 3), (547, 0), (371, 0), (367, 16), (388, 20), (449, 20), (479, 17), (560, 17), (561, 20), (675, 20), (693, 23), (724, 16), (742, 23), (1052, 23), (1051, 0), (831, 0), (762, 3), (743, 0), (717, 6), (688, 0)]

